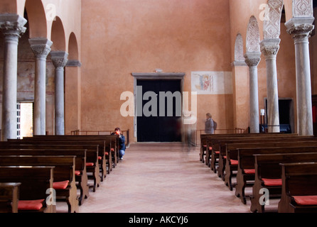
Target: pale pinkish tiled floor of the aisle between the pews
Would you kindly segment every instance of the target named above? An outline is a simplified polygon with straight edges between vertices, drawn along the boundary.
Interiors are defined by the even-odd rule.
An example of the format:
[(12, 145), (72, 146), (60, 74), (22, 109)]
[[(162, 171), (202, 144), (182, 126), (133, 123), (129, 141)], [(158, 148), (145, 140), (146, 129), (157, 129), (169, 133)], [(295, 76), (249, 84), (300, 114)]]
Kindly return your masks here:
[[(58, 206), (63, 211), (63, 206)], [(219, 177), (181, 143), (134, 143), (80, 213), (247, 213)]]

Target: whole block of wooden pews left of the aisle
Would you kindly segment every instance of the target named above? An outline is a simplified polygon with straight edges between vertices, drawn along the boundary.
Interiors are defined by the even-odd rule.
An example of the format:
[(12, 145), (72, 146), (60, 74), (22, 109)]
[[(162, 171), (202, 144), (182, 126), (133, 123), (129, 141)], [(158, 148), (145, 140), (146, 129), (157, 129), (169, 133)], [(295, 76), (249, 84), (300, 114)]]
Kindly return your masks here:
[[(117, 135), (34, 135), (0, 142), (0, 212), (68, 212), (119, 162)], [(78, 192), (78, 193), (77, 193)]]

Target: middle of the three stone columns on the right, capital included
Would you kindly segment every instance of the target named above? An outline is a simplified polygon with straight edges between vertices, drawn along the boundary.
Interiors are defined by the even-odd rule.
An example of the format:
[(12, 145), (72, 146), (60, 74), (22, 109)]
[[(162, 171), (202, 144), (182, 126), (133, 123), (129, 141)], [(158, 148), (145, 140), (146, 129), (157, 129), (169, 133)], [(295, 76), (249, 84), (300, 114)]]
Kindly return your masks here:
[(265, 38), (260, 43), (267, 62), (267, 125), (269, 133), (279, 133), (279, 93), (277, 87), (276, 55), (279, 38)]

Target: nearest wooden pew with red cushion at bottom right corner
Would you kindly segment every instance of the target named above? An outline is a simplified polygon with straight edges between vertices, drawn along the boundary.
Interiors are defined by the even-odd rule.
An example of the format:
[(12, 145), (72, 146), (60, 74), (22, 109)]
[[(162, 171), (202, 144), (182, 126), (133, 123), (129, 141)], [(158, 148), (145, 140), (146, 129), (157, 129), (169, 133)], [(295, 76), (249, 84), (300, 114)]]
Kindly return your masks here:
[(281, 180), (279, 213), (317, 212), (316, 162), (282, 163)]

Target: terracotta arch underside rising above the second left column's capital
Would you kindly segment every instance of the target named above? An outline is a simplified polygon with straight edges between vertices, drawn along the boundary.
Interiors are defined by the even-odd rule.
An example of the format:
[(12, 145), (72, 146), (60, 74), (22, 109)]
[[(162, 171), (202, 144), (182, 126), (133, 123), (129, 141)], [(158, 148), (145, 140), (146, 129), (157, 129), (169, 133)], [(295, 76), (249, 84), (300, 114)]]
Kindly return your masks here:
[(26, 12), (28, 13), (28, 26), (30, 38), (48, 35), (45, 9), (41, 0), (26, 0)]

